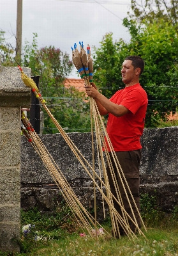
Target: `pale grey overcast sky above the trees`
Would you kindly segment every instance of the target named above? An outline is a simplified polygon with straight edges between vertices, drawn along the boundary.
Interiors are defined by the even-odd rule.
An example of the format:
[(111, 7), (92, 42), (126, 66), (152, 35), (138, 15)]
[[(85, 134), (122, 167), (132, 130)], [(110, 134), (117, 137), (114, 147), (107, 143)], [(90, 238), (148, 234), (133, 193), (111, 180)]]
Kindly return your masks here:
[[(74, 43), (84, 42), (100, 47), (106, 33), (112, 32), (114, 40), (127, 42), (130, 35), (122, 19), (130, 10), (130, 0), (23, 0), (22, 47), (25, 40), (33, 41), (38, 34), (38, 47), (54, 45), (70, 54)], [(15, 45), (17, 0), (0, 0), (0, 29), (6, 39)], [(92, 48), (91, 48), (92, 54)], [(70, 77), (77, 78), (76, 68)], [(78, 77), (79, 78), (79, 77)]]

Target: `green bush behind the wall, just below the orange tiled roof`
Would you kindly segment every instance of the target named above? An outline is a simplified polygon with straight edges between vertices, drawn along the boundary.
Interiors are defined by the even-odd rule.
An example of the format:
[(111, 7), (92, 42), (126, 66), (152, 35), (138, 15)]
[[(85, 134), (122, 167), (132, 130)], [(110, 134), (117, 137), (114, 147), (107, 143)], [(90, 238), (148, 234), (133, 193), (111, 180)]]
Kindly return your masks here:
[[(61, 92), (63, 91), (63, 92)], [(47, 106), (55, 116), (61, 127), (67, 128), (66, 132), (89, 132), (91, 131), (91, 119), (89, 115), (89, 102), (85, 101), (85, 95), (77, 89), (70, 87), (58, 90), (59, 95), (48, 95)], [(57, 132), (52, 120), (45, 124), (44, 133)], [(49, 128), (49, 129), (48, 129)]]

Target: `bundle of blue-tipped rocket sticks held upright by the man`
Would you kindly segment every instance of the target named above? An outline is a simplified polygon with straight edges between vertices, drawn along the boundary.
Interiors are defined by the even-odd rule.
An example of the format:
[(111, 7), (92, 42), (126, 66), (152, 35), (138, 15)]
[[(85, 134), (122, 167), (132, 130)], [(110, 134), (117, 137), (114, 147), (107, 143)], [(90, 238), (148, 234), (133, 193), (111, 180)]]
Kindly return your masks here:
[[(79, 44), (80, 44), (80, 42), (79, 42)], [(83, 70), (87, 70), (87, 67), (90, 68), (91, 73), (92, 73), (92, 77), (90, 79), (88, 79), (87, 71), (85, 71), (84, 74), (80, 75), (80, 77), (85, 80), (85, 83), (91, 84), (93, 82), (93, 60), (91, 58), (91, 51), (90, 51), (89, 45), (87, 45), (87, 54), (86, 54), (86, 52), (84, 50), (83, 42), (82, 42), (82, 44), (80, 44), (80, 52), (77, 49), (77, 44), (74, 44), (74, 50), (72, 49), (72, 60), (73, 60), (74, 65), (75, 65), (75, 63), (78, 63), (78, 65), (75, 65), (77, 70), (78, 70), (78, 67), (79, 67), (79, 70), (81, 70), (81, 68), (83, 68)], [(78, 70), (78, 72), (79, 72), (79, 70)], [(79, 72), (79, 74), (80, 74), (80, 72)], [(110, 190), (110, 185), (108, 183), (108, 173), (107, 173), (106, 166), (105, 166), (102, 146), (104, 148), (108, 148), (108, 147), (110, 148), (110, 152), (112, 153), (112, 159), (114, 159), (115, 166), (117, 167), (117, 174), (119, 176), (119, 179), (121, 180), (122, 186), (126, 193), (126, 198), (128, 200), (128, 204), (130, 205), (131, 212), (133, 214), (133, 220), (131, 220), (131, 221), (135, 222), (135, 228), (140, 233), (140, 228), (138, 228), (137, 220), (136, 220), (135, 214), (133, 212), (133, 207), (131, 207), (131, 203), (130, 203), (130, 199), (128, 197), (127, 191), (131, 195), (131, 199), (133, 200), (134, 207), (135, 207), (135, 209), (137, 209), (139, 216), (140, 216), (140, 212), (138, 211), (138, 207), (135, 204), (135, 200), (133, 198), (133, 195), (131, 194), (130, 188), (126, 181), (126, 178), (124, 177), (124, 173), (122, 172), (121, 165), (120, 165), (120, 163), (117, 159), (117, 156), (114, 152), (114, 148), (112, 147), (110, 138), (108, 137), (107, 131), (105, 129), (105, 125), (102, 122), (102, 118), (100, 116), (100, 112), (98, 111), (97, 104), (92, 97), (89, 97), (89, 100), (90, 100), (90, 106), (91, 106), (91, 117), (94, 118), (94, 129), (96, 132), (96, 141), (97, 141), (97, 145), (98, 145), (98, 152), (100, 152), (99, 155), (100, 155), (102, 169), (103, 169), (103, 176), (105, 179), (105, 186), (107, 186), (107, 188)], [(93, 124), (92, 124), (93, 118), (91, 118), (91, 132), (92, 133), (93, 133)], [(92, 145), (93, 145), (93, 143), (92, 143)], [(129, 236), (129, 234), (131, 234), (130, 227), (128, 227), (128, 218), (130, 219), (130, 216), (128, 216), (128, 214), (124, 211), (124, 204), (122, 202), (121, 194), (119, 191), (119, 186), (117, 184), (117, 178), (115, 177), (115, 173), (114, 173), (114, 170), (112, 167), (112, 161), (110, 159), (110, 155), (108, 154), (108, 150), (105, 150), (105, 157), (107, 158), (107, 163), (108, 163), (108, 166), (110, 169), (110, 174), (112, 176), (114, 188), (115, 188), (115, 191), (117, 194), (117, 202), (121, 206), (121, 211), (122, 211), (122, 216), (120, 216), (121, 218), (119, 218), (119, 220), (117, 220), (117, 216), (115, 216), (115, 212), (113, 211), (112, 207), (110, 207), (110, 216), (112, 219), (112, 228), (113, 228), (114, 236), (118, 236), (118, 234), (119, 234), (118, 223), (122, 227), (124, 232)], [(124, 183), (125, 183), (125, 185), (124, 185)], [(107, 197), (108, 197), (108, 200), (110, 200), (110, 204), (114, 205), (113, 196), (110, 195), (110, 193), (107, 193)], [(142, 225), (145, 228), (145, 225), (144, 225), (144, 222), (142, 221), (141, 216), (140, 216), (140, 220), (142, 222)], [(119, 237), (120, 237), (120, 234), (119, 234)]]

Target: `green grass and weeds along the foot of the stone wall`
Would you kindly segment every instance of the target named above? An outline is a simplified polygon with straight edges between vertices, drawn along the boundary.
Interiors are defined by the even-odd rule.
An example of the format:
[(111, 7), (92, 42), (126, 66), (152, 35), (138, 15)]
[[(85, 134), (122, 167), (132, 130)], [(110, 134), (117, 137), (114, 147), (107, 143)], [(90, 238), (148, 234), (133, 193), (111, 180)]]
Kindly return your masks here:
[[(58, 205), (53, 214), (42, 214), (38, 209), (21, 213), (22, 226), (33, 224), (31, 232), (19, 241), (20, 253), (0, 252), (0, 256), (49, 256), (49, 255), (178, 255), (178, 207), (172, 214), (161, 212), (156, 207), (156, 198), (141, 195), (141, 214), (147, 228), (142, 229), (144, 236), (138, 235), (134, 240), (128, 237), (115, 239), (105, 234), (95, 237), (80, 236), (81, 228), (65, 204)], [(110, 219), (101, 223), (110, 233)], [(23, 234), (21, 234), (23, 235)], [(35, 236), (41, 237), (35, 241)]]

